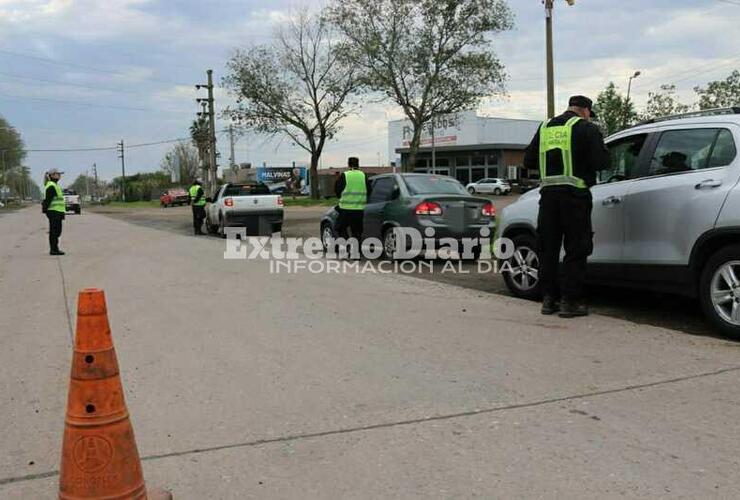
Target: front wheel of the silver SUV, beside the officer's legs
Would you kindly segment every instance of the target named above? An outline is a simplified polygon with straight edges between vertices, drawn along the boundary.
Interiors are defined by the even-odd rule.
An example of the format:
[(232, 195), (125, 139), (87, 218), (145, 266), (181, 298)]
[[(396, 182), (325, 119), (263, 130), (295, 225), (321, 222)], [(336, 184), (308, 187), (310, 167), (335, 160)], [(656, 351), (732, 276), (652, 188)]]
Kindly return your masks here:
[(540, 258), (537, 254), (537, 239), (530, 234), (512, 238), (514, 255), (502, 263), (504, 282), (517, 297), (538, 300), (540, 291)]

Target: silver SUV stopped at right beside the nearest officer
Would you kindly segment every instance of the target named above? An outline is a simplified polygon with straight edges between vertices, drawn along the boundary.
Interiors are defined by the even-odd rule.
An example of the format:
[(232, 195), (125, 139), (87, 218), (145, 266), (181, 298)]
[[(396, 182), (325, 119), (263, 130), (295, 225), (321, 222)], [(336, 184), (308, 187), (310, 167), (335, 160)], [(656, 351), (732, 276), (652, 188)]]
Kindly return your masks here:
[[(588, 281), (698, 298), (711, 322), (740, 338), (740, 108), (644, 122), (610, 136), (593, 194)], [(539, 190), (505, 208), (499, 236), (516, 247), (504, 279), (539, 296)], [(508, 270), (508, 266), (504, 269)]]

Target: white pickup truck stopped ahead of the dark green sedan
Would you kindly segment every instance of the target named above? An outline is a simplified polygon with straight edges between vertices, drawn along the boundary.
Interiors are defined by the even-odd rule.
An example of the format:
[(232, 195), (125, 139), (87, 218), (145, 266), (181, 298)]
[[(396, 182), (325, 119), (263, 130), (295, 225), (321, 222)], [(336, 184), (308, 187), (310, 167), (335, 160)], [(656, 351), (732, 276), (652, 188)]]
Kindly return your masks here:
[(269, 236), (283, 227), (283, 197), (261, 182), (224, 184), (206, 204), (206, 228), (226, 235), (227, 227), (246, 227), (250, 236)]

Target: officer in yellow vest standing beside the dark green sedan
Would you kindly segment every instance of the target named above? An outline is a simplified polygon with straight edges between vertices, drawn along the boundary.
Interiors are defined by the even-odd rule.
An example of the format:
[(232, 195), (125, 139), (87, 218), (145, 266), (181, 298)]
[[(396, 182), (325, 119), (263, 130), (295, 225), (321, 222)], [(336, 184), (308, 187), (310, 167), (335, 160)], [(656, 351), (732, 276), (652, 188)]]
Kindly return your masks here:
[(362, 243), (363, 215), (367, 205), (367, 195), (370, 191), (369, 181), (360, 170), (360, 159), (354, 156), (347, 159), (348, 170), (343, 172), (334, 185), (334, 192), (339, 198), (339, 218), (337, 233), (342, 238), (348, 238), (347, 228), (352, 231), (352, 237)]

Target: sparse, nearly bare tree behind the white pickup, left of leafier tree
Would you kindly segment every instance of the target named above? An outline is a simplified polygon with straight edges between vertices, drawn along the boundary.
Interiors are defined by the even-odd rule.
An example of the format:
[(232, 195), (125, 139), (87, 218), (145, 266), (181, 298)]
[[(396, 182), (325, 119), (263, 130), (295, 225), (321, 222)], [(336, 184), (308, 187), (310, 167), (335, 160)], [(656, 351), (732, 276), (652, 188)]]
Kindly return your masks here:
[(288, 137), (311, 156), (311, 197), (318, 199), (318, 165), (328, 140), (355, 108), (356, 69), (320, 16), (301, 13), (278, 30), (272, 46), (237, 51), (225, 86), (237, 99), (227, 110), (237, 124)]

